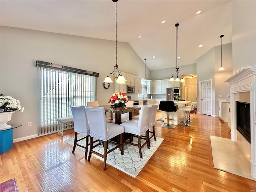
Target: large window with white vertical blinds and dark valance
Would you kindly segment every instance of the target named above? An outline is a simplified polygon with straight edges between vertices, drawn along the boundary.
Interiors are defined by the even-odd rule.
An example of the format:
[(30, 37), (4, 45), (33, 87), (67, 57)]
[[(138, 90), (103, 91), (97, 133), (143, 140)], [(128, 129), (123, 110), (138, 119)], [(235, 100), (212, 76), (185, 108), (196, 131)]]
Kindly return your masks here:
[(48, 62), (38, 67), (39, 134), (56, 132), (56, 119), (72, 116), (70, 106), (96, 100), (98, 73)]

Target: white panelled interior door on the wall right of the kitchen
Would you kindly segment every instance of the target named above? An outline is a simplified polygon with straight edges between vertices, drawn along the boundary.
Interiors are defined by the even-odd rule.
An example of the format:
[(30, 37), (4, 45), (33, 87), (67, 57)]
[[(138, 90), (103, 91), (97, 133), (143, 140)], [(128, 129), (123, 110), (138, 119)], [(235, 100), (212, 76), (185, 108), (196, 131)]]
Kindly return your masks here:
[(202, 86), (202, 114), (212, 115), (212, 85), (211, 80), (201, 82)]

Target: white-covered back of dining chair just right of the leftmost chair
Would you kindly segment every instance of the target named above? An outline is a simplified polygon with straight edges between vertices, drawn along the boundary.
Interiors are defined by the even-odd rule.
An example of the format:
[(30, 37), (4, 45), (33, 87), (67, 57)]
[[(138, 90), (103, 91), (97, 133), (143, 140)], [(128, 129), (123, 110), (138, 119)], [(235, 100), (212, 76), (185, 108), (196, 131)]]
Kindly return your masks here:
[(106, 141), (107, 122), (104, 108), (86, 106), (85, 110), (90, 126), (90, 136)]

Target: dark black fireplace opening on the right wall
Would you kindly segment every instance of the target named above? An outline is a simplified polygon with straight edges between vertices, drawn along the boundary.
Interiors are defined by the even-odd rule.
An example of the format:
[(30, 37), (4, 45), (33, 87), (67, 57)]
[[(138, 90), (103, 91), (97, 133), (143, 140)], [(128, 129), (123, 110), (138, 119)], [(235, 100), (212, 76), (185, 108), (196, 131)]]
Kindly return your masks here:
[(250, 103), (236, 102), (236, 129), (251, 143)]

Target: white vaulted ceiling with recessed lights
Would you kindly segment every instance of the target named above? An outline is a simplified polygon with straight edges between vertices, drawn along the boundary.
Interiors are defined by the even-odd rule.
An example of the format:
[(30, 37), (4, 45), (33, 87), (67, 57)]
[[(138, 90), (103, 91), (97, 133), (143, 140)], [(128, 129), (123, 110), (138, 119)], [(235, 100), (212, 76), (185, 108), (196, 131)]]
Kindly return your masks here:
[[(202, 13), (196, 15), (201, 10)], [(115, 40), (112, 0), (1, 0), (2, 26)], [(164, 24), (161, 22), (166, 20)], [(214, 46), (232, 42), (230, 0), (119, 0), (117, 38), (128, 42), (150, 70), (195, 63)], [(142, 36), (138, 38), (138, 36)], [(202, 48), (198, 46), (203, 44)], [(152, 58), (156, 56), (156, 58)]]

